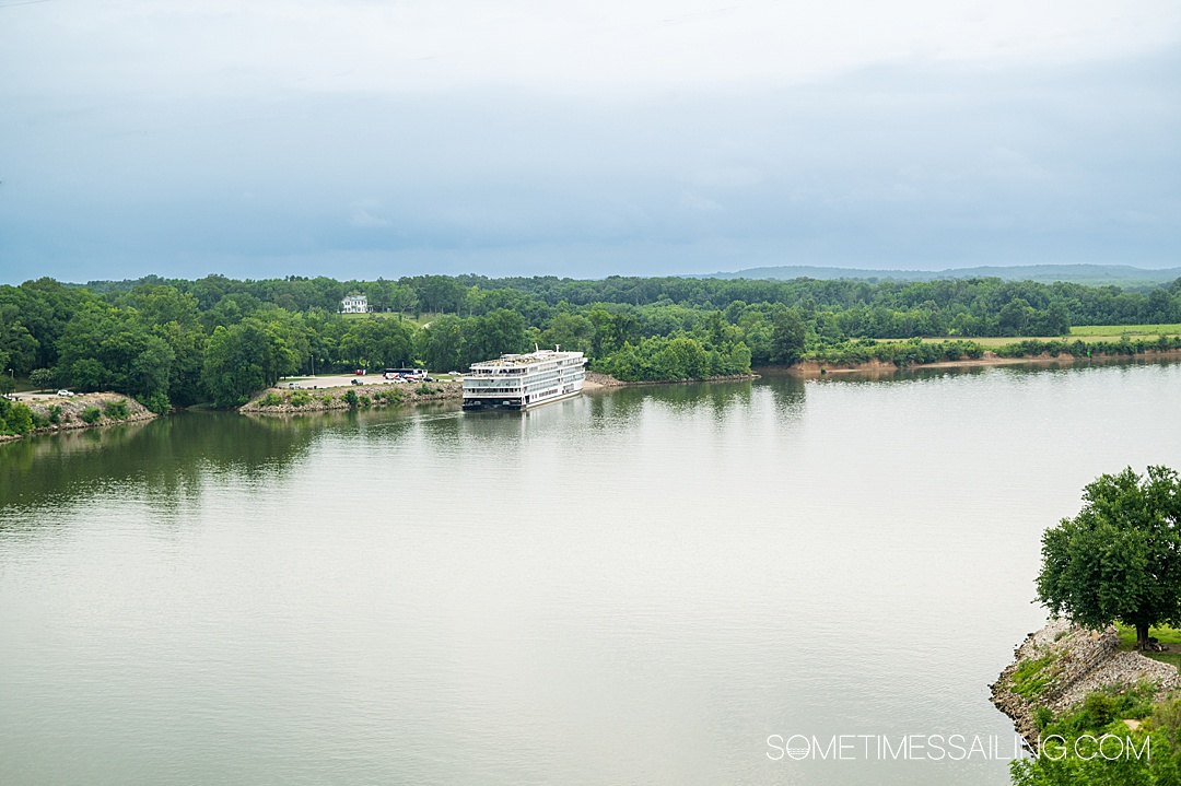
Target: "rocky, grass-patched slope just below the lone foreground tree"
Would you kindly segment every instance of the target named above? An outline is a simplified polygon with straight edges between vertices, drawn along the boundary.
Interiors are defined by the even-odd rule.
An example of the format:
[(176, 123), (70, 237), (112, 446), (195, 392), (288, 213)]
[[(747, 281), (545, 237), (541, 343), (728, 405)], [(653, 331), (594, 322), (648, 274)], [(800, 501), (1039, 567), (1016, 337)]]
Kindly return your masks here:
[(1160, 697), (1181, 688), (1181, 674), (1168, 663), (1122, 650), (1114, 625), (1088, 630), (1052, 620), (1025, 637), (1013, 650), (1013, 662), (990, 688), (997, 709), (1012, 719), (1026, 742), (1036, 745), (1046, 713), (1070, 712), (1095, 690), (1136, 686)]

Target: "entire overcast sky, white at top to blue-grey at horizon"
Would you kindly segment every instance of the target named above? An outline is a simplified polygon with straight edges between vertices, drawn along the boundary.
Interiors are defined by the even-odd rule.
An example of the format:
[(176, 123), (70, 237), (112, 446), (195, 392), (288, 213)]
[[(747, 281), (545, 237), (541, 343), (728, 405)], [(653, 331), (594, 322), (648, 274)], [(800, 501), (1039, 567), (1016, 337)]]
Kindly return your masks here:
[(1173, 267), (1179, 44), (1176, 0), (0, 0), (0, 282)]

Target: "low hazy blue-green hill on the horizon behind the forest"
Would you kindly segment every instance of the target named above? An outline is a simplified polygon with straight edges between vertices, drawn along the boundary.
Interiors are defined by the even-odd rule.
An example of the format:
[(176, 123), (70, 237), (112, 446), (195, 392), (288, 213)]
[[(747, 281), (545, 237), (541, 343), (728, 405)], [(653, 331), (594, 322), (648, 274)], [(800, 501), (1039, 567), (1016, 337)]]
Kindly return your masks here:
[(869, 270), (860, 268), (820, 268), (809, 266), (784, 266), (774, 268), (748, 268), (733, 273), (711, 273), (690, 276), (692, 279), (863, 279), (885, 281), (934, 281), (937, 279), (1004, 279), (1006, 281), (1037, 281), (1116, 287), (1151, 287), (1181, 279), (1181, 268), (1148, 270), (1128, 264), (1014, 264), (1010, 267), (950, 268), (947, 270)]

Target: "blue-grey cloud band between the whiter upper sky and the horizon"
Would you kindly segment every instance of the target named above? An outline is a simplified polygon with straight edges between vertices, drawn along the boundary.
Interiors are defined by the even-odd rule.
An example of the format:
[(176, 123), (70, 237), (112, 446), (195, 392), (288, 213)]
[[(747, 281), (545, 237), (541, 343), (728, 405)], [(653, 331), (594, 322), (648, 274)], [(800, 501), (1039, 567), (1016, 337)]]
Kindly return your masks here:
[(9, 97), (0, 279), (1176, 264), (1179, 77), (1159, 53), (614, 98)]

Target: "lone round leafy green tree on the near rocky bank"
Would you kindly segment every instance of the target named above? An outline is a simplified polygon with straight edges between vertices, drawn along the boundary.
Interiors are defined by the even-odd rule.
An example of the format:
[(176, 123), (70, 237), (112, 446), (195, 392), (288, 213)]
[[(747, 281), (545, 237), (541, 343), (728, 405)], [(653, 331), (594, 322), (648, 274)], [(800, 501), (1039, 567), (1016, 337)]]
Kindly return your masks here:
[(1038, 601), (1089, 628), (1123, 622), (1148, 628), (1181, 622), (1181, 482), (1163, 466), (1141, 478), (1131, 467), (1103, 474), (1083, 509), (1042, 536)]

